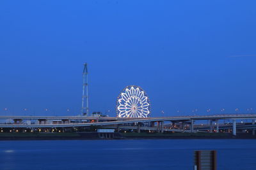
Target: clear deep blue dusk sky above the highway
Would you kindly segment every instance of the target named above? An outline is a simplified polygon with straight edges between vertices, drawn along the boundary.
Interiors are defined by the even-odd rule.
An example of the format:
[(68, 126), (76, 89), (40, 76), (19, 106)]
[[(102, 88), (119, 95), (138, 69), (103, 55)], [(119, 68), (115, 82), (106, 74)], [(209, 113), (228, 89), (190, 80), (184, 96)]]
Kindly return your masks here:
[(147, 92), (152, 117), (255, 111), (255, 6), (1, 1), (0, 114), (78, 115), (84, 62), (91, 111), (115, 116), (127, 85)]

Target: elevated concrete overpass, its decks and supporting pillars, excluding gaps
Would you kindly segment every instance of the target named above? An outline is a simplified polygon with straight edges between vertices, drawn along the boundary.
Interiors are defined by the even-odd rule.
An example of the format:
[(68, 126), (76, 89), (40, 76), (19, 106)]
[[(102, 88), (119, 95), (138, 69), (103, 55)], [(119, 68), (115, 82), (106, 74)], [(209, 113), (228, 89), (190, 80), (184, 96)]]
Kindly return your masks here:
[[(207, 120), (210, 122), (209, 132), (216, 127), (216, 132), (219, 132), (219, 120), (232, 120), (232, 133), (236, 135), (237, 120), (252, 120), (252, 124), (247, 128), (252, 129), (255, 134), (256, 114), (230, 114), (230, 115), (204, 115), (204, 116), (186, 116), (186, 117), (149, 117), (149, 118), (118, 118), (118, 117), (45, 117), (45, 116), (0, 116), (0, 120), (12, 120), (8, 123), (0, 124), (0, 128), (12, 129), (36, 129), (36, 128), (76, 128), (76, 127), (91, 127), (101, 126), (115, 127), (118, 129), (137, 129), (148, 131), (175, 131), (175, 132), (197, 132), (194, 131), (196, 121)], [(31, 122), (32, 121), (32, 122)], [(34, 121), (34, 122), (33, 122)], [(179, 124), (179, 129), (166, 129), (164, 122)], [(215, 122), (215, 124), (213, 124)], [(157, 124), (157, 125), (155, 125)], [(186, 128), (188, 126), (188, 128)], [(229, 127), (230, 128), (230, 127)], [(189, 130), (187, 130), (189, 129)], [(202, 128), (201, 128), (202, 129)], [(205, 131), (205, 129), (202, 129)]]

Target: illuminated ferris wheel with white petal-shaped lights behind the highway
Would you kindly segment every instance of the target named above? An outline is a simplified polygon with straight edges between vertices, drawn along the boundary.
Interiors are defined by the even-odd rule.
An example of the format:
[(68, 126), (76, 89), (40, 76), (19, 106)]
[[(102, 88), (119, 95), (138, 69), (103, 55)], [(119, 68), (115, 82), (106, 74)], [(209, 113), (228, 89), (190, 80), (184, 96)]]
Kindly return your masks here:
[(146, 92), (135, 85), (125, 87), (117, 97), (116, 114), (117, 117), (149, 117), (150, 101)]

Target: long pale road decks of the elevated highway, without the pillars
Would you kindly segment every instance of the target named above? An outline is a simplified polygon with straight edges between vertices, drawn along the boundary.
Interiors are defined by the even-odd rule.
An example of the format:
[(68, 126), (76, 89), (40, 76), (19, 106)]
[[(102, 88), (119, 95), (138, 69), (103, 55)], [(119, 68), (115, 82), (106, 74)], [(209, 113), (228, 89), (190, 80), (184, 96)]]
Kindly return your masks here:
[[(224, 119), (256, 119), (256, 114), (240, 115), (207, 115), (186, 117), (150, 117), (150, 118), (117, 118), (117, 117), (39, 117), (39, 116), (0, 116), (0, 119), (12, 120), (87, 120), (86, 123), (63, 124), (0, 124), (0, 127), (86, 127), (91, 125), (118, 125), (144, 122), (188, 122), (191, 120), (224, 120)], [(92, 120), (94, 122), (92, 122)]]

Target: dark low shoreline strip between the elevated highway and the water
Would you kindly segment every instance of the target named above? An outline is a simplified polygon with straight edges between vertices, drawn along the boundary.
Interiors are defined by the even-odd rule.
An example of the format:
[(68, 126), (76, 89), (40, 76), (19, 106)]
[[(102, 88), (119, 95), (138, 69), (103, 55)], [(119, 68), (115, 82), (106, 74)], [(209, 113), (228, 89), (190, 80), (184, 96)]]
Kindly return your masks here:
[(97, 132), (77, 133), (1, 133), (0, 141), (19, 140), (127, 140), (127, 139), (256, 139), (252, 134), (208, 134), (208, 133), (114, 133), (114, 138), (99, 138)]

